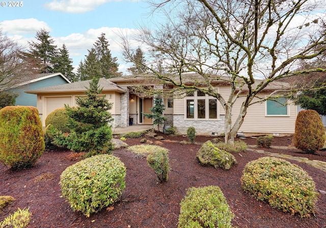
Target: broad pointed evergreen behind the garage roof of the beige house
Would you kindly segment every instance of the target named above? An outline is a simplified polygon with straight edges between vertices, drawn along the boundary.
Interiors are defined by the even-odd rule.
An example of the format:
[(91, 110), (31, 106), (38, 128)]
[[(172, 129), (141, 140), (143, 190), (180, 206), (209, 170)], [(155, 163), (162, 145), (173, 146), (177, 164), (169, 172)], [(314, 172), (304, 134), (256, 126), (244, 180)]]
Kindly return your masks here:
[(118, 72), (117, 58), (112, 57), (110, 49), (108, 49), (108, 41), (105, 34), (102, 33), (98, 40), (94, 43), (94, 47), (88, 50), (88, 55), (78, 66), (78, 76), (80, 80), (88, 80), (96, 78), (112, 78), (120, 76)]

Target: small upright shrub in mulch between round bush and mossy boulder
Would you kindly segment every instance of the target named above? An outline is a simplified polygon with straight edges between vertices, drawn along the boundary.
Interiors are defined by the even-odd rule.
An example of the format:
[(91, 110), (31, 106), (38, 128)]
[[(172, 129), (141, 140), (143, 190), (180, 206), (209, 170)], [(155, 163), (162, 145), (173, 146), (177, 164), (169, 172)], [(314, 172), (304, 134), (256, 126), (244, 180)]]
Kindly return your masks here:
[(156, 150), (147, 156), (147, 163), (154, 170), (160, 182), (168, 181), (170, 166), (168, 152), (165, 148), (156, 146)]

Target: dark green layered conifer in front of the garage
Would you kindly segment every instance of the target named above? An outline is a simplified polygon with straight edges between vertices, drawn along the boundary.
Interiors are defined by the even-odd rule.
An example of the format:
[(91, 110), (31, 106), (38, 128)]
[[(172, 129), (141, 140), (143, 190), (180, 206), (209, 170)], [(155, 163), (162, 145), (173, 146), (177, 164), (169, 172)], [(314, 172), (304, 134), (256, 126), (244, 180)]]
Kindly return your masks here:
[[(69, 117), (68, 127), (71, 132), (66, 135), (52, 129), (56, 135), (54, 144), (67, 147), (75, 152), (86, 152), (86, 157), (112, 152), (112, 130), (108, 122), (112, 121), (112, 103), (108, 103), (98, 86), (98, 78), (90, 81), (86, 96), (76, 99), (77, 107), (66, 105)], [(54, 132), (53, 132), (54, 131)]]

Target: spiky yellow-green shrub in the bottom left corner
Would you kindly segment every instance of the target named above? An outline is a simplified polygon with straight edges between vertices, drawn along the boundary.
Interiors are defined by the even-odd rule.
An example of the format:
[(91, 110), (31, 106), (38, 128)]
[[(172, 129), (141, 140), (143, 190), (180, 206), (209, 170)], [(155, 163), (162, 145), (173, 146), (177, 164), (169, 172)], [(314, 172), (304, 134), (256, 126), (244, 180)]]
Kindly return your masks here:
[(7, 218), (0, 222), (1, 228), (24, 228), (30, 223), (31, 213), (29, 209), (20, 209), (10, 214)]

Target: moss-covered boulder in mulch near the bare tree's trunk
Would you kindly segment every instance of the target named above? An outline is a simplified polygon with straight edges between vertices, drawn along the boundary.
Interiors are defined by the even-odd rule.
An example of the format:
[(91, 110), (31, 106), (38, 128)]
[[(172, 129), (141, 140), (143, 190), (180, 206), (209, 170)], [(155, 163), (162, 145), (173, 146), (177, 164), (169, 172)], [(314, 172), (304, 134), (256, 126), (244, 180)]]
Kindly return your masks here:
[(206, 141), (198, 150), (196, 157), (202, 164), (210, 164), (215, 168), (220, 167), (226, 170), (237, 163), (232, 154), (215, 147), (210, 140)]

